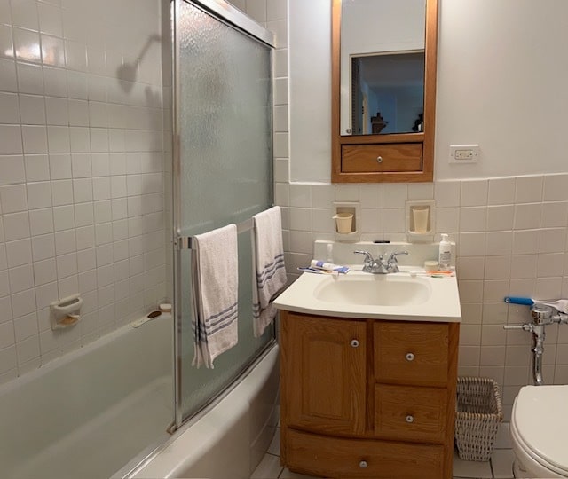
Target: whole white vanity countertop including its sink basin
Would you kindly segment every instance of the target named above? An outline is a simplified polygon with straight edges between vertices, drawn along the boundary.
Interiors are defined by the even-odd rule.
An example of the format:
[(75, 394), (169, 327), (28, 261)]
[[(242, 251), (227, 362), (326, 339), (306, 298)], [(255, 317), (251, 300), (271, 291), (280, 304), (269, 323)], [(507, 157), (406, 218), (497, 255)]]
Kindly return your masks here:
[(274, 305), (280, 310), (340, 318), (460, 322), (456, 278), (411, 276), (408, 271), (416, 269), (371, 274), (362, 272), (359, 264), (347, 274), (304, 273)]

